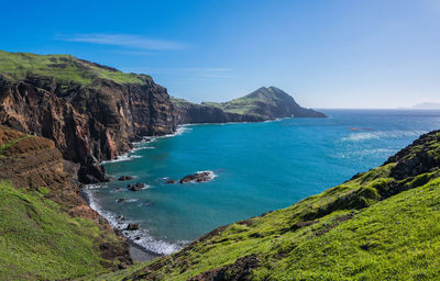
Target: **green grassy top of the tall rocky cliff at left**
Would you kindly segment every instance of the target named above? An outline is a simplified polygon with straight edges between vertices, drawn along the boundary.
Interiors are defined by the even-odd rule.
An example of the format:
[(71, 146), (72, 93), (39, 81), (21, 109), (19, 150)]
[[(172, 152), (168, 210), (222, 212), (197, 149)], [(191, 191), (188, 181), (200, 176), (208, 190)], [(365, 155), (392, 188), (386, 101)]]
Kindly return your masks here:
[(90, 85), (96, 79), (117, 83), (143, 83), (150, 76), (124, 74), (116, 69), (78, 59), (70, 55), (35, 55), (0, 50), (0, 74), (10, 79), (22, 80), (29, 75), (54, 77), (63, 82)]

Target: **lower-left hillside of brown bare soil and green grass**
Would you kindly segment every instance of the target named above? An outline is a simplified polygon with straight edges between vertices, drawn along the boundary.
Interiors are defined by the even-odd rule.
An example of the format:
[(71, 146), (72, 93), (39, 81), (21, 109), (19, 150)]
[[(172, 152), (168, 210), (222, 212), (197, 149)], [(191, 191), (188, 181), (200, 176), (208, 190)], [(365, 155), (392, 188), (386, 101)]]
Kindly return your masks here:
[(0, 126), (0, 280), (107, 272), (124, 247), (80, 200), (52, 140)]

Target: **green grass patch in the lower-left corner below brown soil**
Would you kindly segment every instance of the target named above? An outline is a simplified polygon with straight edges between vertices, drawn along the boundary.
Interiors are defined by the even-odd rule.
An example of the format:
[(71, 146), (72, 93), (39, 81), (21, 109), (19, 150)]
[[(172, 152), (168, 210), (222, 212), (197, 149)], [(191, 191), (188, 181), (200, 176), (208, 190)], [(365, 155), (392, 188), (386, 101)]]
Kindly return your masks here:
[(44, 199), (0, 182), (0, 280), (59, 280), (105, 272), (88, 220), (74, 218)]

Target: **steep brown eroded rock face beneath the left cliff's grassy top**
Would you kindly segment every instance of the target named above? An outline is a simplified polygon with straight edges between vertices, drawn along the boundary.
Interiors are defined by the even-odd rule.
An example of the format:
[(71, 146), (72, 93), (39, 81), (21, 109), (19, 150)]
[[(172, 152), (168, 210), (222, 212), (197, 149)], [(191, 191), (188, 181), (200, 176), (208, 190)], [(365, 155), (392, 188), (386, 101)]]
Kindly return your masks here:
[(105, 180), (99, 161), (128, 151), (136, 137), (174, 132), (173, 111), (166, 89), (148, 79), (82, 86), (0, 75), (0, 124), (53, 139), (65, 159), (80, 165), (85, 183)]

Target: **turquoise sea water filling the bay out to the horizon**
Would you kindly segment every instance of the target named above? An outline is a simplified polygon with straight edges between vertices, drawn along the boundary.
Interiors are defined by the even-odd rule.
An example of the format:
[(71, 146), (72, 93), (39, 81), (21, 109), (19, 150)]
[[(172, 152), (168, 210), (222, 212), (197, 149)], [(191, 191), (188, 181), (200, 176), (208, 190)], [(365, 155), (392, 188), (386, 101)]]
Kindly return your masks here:
[[(110, 176), (135, 176), (87, 189), (91, 205), (129, 237), (169, 254), (213, 228), (294, 204), (382, 165), (420, 134), (440, 128), (440, 111), (323, 110), (329, 119), (180, 127), (175, 136), (136, 144)], [(196, 171), (205, 183), (166, 184)], [(125, 189), (142, 182), (138, 192)], [(118, 190), (117, 188), (121, 188)], [(117, 200), (123, 198), (124, 202)], [(125, 221), (116, 217), (123, 214)]]

